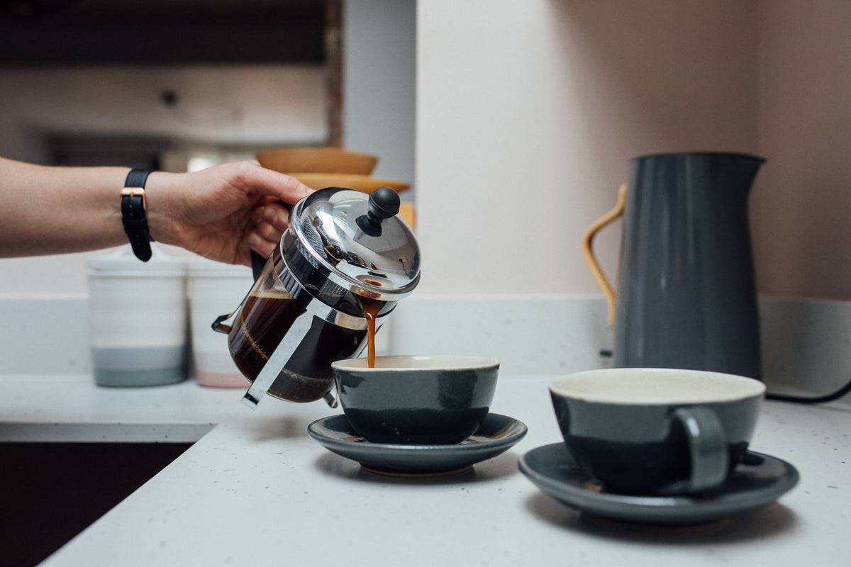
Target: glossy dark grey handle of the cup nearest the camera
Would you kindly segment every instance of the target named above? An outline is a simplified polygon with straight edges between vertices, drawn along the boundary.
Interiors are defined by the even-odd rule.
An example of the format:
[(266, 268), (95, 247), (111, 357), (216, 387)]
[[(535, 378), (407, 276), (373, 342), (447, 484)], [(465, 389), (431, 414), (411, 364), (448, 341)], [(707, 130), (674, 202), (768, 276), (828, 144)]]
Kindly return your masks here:
[(724, 428), (714, 411), (705, 407), (678, 407), (674, 417), (688, 436), (691, 474), (687, 492), (715, 488), (727, 479), (729, 453)]

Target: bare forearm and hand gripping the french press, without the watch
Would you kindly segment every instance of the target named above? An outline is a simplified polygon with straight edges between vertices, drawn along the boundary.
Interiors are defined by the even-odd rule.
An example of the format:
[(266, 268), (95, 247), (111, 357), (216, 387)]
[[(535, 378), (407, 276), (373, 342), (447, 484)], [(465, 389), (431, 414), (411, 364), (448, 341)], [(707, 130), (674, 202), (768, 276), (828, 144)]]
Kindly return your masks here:
[[(120, 192), (126, 167), (47, 167), (0, 158), (0, 257), (83, 252), (127, 242)], [(196, 173), (154, 172), (146, 182), (154, 241), (226, 262), (267, 256), (288, 225), (274, 201), (310, 193), (252, 162)]]

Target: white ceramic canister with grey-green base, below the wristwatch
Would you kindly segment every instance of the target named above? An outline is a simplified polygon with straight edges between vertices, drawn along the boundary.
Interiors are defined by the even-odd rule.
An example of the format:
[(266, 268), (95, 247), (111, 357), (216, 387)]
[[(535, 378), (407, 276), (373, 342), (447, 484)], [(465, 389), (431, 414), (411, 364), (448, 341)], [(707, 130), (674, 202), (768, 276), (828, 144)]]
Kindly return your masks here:
[(186, 260), (151, 243), (89, 258), (89, 332), (100, 386), (158, 386), (186, 378)]

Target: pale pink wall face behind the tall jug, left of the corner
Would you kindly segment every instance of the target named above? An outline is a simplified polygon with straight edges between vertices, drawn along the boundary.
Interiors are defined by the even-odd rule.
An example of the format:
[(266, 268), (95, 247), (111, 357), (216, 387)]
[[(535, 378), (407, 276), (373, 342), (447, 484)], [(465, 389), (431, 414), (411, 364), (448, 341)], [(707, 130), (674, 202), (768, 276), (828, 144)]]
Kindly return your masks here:
[[(757, 3), (419, 3), (424, 293), (598, 293), (632, 156), (757, 151)], [(610, 279), (620, 225), (598, 237)]]

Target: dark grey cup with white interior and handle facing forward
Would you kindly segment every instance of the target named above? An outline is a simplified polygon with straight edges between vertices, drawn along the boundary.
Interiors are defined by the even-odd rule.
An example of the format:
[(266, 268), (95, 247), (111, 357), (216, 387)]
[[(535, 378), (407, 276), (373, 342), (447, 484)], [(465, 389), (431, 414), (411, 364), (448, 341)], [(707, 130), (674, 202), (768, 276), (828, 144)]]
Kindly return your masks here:
[(550, 386), (568, 450), (607, 490), (694, 494), (722, 485), (747, 451), (765, 385), (720, 372), (610, 368)]

